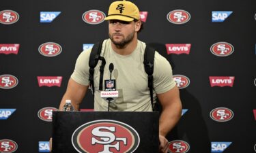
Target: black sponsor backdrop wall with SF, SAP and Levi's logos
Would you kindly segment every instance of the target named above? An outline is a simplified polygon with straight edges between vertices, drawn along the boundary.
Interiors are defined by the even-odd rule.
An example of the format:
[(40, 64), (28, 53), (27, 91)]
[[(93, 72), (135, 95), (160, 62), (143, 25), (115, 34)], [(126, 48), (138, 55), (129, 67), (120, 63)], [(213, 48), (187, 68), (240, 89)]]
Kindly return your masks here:
[[(111, 1), (2, 1), (0, 152), (48, 152), (77, 56), (108, 37)], [(169, 152), (256, 152), (255, 1), (134, 1), (139, 39), (173, 67), (183, 113)], [(81, 109), (90, 109), (88, 93)], [(68, 122), (68, 121), (67, 121)]]

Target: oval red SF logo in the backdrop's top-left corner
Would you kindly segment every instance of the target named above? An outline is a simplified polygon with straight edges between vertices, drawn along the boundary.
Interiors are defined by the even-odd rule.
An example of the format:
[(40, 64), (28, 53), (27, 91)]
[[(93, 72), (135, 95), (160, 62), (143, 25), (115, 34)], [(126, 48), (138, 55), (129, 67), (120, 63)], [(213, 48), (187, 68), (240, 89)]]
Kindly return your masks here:
[(18, 21), (18, 13), (12, 10), (3, 10), (0, 12), (1, 24), (13, 24)]

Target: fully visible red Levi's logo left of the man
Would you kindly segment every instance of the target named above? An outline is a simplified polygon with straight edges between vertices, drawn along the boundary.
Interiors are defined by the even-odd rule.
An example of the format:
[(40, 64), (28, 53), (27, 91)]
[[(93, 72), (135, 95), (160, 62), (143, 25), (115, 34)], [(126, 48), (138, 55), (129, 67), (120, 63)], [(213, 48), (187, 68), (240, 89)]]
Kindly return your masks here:
[(61, 87), (61, 76), (38, 76), (38, 84), (39, 86), (58, 86)]

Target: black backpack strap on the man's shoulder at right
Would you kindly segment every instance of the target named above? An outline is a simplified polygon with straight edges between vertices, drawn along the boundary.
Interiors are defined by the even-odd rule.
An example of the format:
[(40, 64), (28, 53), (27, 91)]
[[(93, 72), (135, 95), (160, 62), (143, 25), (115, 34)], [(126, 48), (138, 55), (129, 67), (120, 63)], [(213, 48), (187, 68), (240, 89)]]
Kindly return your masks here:
[(144, 68), (147, 73), (147, 80), (148, 80), (148, 88), (150, 88), (150, 100), (153, 107), (153, 72), (154, 72), (154, 57), (155, 57), (155, 50), (154, 48), (150, 48), (146, 46), (145, 53), (144, 53)]

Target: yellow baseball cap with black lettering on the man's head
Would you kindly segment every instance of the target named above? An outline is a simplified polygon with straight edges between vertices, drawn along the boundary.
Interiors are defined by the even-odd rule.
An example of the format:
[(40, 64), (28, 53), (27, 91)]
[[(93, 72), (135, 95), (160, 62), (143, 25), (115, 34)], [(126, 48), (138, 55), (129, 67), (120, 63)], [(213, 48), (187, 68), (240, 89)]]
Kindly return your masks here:
[(114, 1), (109, 6), (109, 13), (104, 20), (139, 20), (139, 8), (130, 1)]

